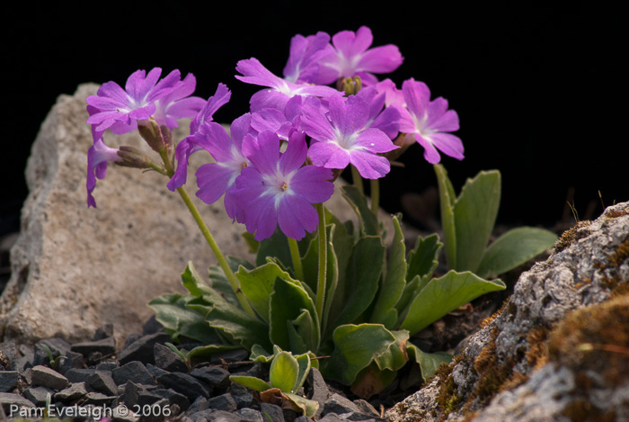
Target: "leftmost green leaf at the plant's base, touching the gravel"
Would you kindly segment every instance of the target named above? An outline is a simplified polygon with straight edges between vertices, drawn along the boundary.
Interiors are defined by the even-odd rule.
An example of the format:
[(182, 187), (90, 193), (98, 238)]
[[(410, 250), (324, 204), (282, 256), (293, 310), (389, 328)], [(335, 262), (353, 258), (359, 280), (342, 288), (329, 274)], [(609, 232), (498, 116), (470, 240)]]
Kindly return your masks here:
[(177, 340), (188, 337), (201, 343), (221, 343), (220, 337), (208, 326), (205, 312), (197, 312), (187, 307), (195, 296), (182, 296), (179, 293), (163, 294), (148, 302), (155, 311), (155, 319), (166, 328), (166, 332)]

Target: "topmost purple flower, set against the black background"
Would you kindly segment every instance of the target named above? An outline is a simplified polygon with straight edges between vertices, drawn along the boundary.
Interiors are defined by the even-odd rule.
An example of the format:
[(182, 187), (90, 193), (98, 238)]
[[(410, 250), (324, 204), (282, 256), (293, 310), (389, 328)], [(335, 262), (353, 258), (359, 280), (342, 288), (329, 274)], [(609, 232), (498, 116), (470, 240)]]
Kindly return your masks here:
[(403, 61), (400, 50), (393, 44), (369, 49), (374, 37), (367, 26), (356, 33), (341, 31), (332, 37), (334, 50), (319, 61), (318, 84), (331, 84), (339, 77), (358, 75), (363, 85), (374, 85), (374, 73), (393, 72)]

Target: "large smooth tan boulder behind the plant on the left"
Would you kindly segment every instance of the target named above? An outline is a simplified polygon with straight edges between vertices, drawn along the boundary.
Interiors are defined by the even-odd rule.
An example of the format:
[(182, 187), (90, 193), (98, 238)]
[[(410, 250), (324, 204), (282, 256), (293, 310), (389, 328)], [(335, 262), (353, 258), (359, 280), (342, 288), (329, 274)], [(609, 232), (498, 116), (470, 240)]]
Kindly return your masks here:
[[(30, 194), (11, 252), (12, 278), (0, 298), (5, 339), (81, 341), (113, 323), (121, 344), (151, 315), (147, 301), (182, 291), (180, 274), (189, 260), (201, 274), (216, 264), (163, 175), (110, 166), (96, 184), (98, 208), (87, 208), (86, 153), (93, 140), (85, 124), (85, 98), (97, 89), (85, 84), (74, 95), (59, 96), (32, 147), (26, 169)], [(182, 123), (173, 139), (182, 139), (187, 126)], [(153, 154), (135, 132), (106, 134), (105, 139), (112, 147), (128, 145)], [(193, 157), (190, 196), (223, 252), (251, 258), (240, 236), (244, 226), (232, 224), (222, 201), (208, 206), (194, 195), (194, 172), (208, 157)], [(341, 220), (355, 216), (339, 193), (326, 205)]]

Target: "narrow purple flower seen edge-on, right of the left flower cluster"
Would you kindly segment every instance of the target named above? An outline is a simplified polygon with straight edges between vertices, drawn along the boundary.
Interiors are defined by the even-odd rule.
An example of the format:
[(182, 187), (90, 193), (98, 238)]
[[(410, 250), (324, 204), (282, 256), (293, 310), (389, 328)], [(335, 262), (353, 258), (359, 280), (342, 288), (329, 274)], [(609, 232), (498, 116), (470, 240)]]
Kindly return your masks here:
[(204, 124), (213, 120), (214, 113), (229, 101), (231, 95), (232, 93), (226, 85), (218, 84), (216, 93), (209, 97), (208, 102), (205, 103), (197, 116), (190, 121), (190, 136), (177, 144), (177, 148), (175, 148), (174, 151), (177, 160), (177, 169), (167, 184), (168, 189), (171, 191), (186, 184), (186, 179), (188, 178), (188, 160), (194, 152), (203, 148), (199, 145), (199, 142), (195, 141), (195, 134), (199, 132), (199, 129)]

